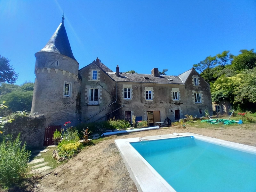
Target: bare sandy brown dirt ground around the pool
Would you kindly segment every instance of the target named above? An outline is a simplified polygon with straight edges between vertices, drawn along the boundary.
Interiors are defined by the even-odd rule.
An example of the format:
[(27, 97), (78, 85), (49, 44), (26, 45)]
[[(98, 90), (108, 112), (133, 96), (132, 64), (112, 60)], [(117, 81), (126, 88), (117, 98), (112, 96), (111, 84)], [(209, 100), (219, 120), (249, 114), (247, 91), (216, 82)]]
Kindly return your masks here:
[[(161, 130), (135, 132), (113, 135), (108, 140), (87, 146), (76, 157), (66, 164), (57, 167), (54, 172), (45, 176), (35, 192), (73, 192), (73, 191), (137, 191), (129, 176), (124, 162), (115, 146), (115, 139), (145, 137), (171, 134), (172, 132), (191, 132), (208, 137), (228, 140), (241, 144), (256, 146), (256, 125), (248, 124), (239, 127), (223, 126), (219, 128), (169, 127)], [(54, 175), (54, 173), (58, 173)]]

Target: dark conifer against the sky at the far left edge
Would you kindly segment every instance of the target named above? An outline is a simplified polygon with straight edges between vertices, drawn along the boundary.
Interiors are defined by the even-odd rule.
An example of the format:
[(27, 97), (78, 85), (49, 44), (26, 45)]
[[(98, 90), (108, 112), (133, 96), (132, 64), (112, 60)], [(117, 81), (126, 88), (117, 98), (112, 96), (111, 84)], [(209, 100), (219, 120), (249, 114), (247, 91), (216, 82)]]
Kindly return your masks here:
[(10, 60), (0, 55), (0, 83), (15, 83), (18, 74), (10, 66)]

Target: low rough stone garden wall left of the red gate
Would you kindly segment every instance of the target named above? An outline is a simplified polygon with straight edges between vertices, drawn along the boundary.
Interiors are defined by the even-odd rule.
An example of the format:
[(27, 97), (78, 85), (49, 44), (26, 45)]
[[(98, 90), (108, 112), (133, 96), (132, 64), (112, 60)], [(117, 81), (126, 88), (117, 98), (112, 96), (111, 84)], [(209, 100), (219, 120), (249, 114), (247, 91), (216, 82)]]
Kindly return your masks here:
[(43, 147), (45, 122), (44, 115), (19, 117), (5, 124), (4, 134), (12, 134), (16, 138), (20, 133), (20, 140), (22, 144), (26, 141), (27, 148)]

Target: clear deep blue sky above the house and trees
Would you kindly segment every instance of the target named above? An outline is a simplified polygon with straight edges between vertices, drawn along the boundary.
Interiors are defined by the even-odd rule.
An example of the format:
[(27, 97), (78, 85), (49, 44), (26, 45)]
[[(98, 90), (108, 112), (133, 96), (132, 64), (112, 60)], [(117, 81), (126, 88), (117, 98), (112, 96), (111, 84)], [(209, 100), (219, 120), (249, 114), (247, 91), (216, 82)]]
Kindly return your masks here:
[(208, 55), (256, 49), (255, 0), (0, 0), (0, 54), (35, 80), (34, 54), (61, 22), (80, 68), (97, 57), (115, 71), (179, 75)]

